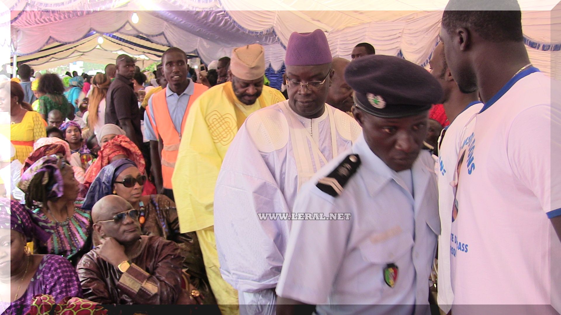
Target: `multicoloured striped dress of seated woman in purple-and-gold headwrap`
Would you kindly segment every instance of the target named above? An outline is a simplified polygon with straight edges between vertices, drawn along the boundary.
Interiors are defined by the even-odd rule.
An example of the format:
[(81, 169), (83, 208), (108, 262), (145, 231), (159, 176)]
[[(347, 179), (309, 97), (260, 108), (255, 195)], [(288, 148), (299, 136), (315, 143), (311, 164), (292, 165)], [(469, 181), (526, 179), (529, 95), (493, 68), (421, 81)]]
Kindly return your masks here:
[[(81, 209), (82, 203), (84, 200), (77, 200), (74, 214), (63, 222), (49, 220), (40, 208), (29, 210), (16, 203), (17, 209), (13, 211), (27, 211), (33, 221), (32, 223), (24, 222), (24, 225), (34, 226), (34, 253), (56, 254), (65, 257), (73, 266), (76, 266), (80, 258), (91, 249), (91, 211)], [(13, 206), (14, 203), (12, 203), (12, 209)]]

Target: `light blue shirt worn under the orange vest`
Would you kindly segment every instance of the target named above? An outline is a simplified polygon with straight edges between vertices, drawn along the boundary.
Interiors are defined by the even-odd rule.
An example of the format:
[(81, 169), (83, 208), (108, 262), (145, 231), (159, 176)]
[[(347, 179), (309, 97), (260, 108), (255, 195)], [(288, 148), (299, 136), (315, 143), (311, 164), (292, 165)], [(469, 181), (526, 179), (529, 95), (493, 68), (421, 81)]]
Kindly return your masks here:
[[(172, 118), (173, 127), (176, 128), (177, 132), (181, 134), (181, 123), (183, 122), (183, 114), (187, 110), (187, 104), (189, 103), (189, 99), (191, 95), (195, 92), (195, 84), (191, 79), (189, 80), (189, 86), (187, 89), (181, 93), (181, 95), (177, 95), (172, 90), (169, 89), (169, 84), (165, 89), (165, 101), (168, 103), (168, 112), (170, 117)], [(152, 100), (154, 95), (150, 96), (148, 100), (148, 106), (150, 109), (152, 108)], [(154, 110), (150, 110), (150, 118), (154, 121)], [(144, 112), (144, 137), (148, 140), (158, 141), (158, 137), (152, 128), (152, 124), (148, 120), (148, 110)]]

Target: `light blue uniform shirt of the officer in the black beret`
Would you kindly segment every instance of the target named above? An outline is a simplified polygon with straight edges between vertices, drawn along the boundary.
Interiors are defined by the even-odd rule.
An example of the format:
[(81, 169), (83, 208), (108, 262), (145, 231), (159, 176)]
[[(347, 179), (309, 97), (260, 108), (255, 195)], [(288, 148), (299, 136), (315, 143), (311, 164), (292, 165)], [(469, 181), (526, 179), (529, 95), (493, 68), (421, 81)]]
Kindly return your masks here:
[[(360, 165), (339, 196), (316, 187), (350, 154), (360, 157)], [(374, 155), (362, 135), (315, 174), (302, 186), (293, 212), (351, 217), (292, 222), (277, 294), (316, 304), (319, 314), (430, 313), (429, 275), (440, 234), (430, 154), (421, 150), (408, 174), (412, 187)], [(392, 287), (385, 272), (394, 266), (397, 277), (387, 275)]]

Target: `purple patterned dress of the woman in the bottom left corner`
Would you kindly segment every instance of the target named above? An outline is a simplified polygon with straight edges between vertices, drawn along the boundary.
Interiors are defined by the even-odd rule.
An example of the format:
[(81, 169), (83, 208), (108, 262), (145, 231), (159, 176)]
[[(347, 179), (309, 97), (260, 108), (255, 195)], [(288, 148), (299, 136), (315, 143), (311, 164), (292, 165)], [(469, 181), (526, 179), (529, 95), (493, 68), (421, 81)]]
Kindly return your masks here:
[(12, 302), (4, 314), (25, 314), (37, 294), (52, 295), (57, 303), (66, 297), (83, 297), (76, 270), (65, 258), (57, 255), (43, 256), (25, 293)]

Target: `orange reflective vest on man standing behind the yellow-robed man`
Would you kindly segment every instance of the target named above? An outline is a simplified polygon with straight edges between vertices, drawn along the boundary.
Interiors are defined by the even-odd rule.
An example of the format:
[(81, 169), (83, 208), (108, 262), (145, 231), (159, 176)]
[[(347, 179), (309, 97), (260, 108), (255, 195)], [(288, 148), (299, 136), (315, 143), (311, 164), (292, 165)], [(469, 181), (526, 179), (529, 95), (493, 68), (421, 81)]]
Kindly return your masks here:
[[(193, 95), (190, 96), (189, 102), (187, 103), (187, 110), (183, 114), (183, 120), (181, 121), (181, 132), (185, 127), (185, 121), (187, 120), (187, 114), (191, 108), (191, 104), (201, 95), (204, 91), (208, 90), (208, 87), (191, 82), (190, 84), (195, 85), (195, 91)], [(172, 174), (173, 168), (177, 161), (177, 152), (179, 150), (179, 143), (181, 141), (181, 133), (177, 132), (171, 115), (168, 110), (168, 103), (165, 100), (165, 91), (167, 88), (162, 89), (162, 91), (157, 92), (152, 95), (151, 106), (146, 107), (148, 110), (148, 119), (152, 125), (155, 135), (162, 138), (163, 149), (162, 149), (162, 178), (163, 186), (167, 189), (172, 189)], [(152, 119), (152, 114), (154, 119)]]

